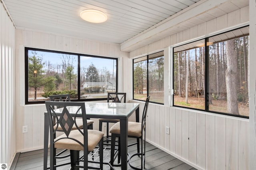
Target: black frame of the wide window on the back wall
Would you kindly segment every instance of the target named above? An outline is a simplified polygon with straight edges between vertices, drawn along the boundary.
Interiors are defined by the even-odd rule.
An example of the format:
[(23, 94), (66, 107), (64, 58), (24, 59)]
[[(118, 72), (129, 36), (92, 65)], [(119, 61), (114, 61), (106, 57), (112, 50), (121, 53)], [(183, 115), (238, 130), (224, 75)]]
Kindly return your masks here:
[(48, 53), (59, 53), (59, 54), (66, 54), (66, 55), (77, 55), (77, 93), (78, 98), (77, 99), (71, 99), (71, 101), (74, 102), (88, 102), (88, 101), (101, 101), (101, 100), (107, 100), (106, 98), (95, 98), (95, 99), (81, 99), (80, 98), (80, 57), (95, 57), (95, 58), (102, 58), (102, 59), (112, 59), (116, 60), (116, 92), (118, 92), (118, 58), (114, 57), (103, 57), (103, 56), (96, 56), (96, 55), (87, 55), (87, 54), (80, 54), (80, 53), (70, 53), (70, 52), (62, 52), (62, 51), (54, 51), (54, 50), (47, 50), (47, 49), (38, 49), (38, 48), (31, 48), (31, 47), (24, 47), (25, 50), (25, 105), (28, 104), (44, 104), (45, 101), (48, 100), (42, 100), (42, 101), (28, 101), (28, 51), (42, 51), (42, 52), (48, 52)]

